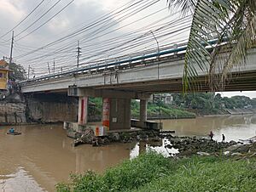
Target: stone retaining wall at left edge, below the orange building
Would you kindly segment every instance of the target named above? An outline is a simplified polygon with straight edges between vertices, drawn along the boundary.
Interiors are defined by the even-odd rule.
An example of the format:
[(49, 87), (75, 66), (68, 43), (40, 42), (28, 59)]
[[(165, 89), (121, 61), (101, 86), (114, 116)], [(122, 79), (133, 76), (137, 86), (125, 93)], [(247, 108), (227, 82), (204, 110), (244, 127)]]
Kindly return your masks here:
[(25, 103), (0, 103), (0, 125), (26, 122)]

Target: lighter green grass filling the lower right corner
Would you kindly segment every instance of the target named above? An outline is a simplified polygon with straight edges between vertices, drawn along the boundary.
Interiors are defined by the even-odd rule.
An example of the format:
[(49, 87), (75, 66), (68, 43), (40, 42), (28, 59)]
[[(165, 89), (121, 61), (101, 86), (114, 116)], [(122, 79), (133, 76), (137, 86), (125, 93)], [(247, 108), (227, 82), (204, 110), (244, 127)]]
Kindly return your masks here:
[(177, 171), (134, 191), (254, 191), (256, 161), (196, 158)]

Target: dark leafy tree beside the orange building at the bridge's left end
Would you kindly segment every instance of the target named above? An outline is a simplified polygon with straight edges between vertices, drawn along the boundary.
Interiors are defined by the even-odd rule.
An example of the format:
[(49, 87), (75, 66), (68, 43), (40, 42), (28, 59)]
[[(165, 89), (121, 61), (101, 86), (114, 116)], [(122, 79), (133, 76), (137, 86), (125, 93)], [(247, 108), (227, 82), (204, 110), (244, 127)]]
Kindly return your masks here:
[(9, 65), (9, 70), (11, 70), (12, 72), (10, 72), (9, 74), (9, 79), (12, 81), (22, 81), (26, 79), (26, 71), (23, 68), (23, 66), (15, 64), (15, 63), (11, 63)]

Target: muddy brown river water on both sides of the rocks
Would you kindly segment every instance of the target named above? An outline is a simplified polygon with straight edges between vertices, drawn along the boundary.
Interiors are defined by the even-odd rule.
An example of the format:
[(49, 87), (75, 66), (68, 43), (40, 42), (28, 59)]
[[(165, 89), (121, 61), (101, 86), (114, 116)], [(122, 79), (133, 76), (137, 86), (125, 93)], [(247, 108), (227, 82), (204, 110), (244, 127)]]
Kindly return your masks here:
[[(166, 130), (175, 130), (180, 136), (205, 136), (211, 130), (215, 139), (246, 139), (256, 135), (256, 115), (212, 116), (185, 120), (163, 121)], [(74, 148), (61, 124), (15, 127), (21, 135), (7, 135), (9, 127), (0, 127), (0, 191), (55, 191), (55, 184), (67, 182), (70, 172), (88, 169), (104, 172), (146, 150), (164, 155), (169, 151), (153, 144), (109, 144), (102, 147), (80, 145)], [(155, 145), (155, 144), (154, 144)], [(172, 150), (177, 152), (177, 150)]]

